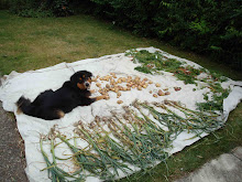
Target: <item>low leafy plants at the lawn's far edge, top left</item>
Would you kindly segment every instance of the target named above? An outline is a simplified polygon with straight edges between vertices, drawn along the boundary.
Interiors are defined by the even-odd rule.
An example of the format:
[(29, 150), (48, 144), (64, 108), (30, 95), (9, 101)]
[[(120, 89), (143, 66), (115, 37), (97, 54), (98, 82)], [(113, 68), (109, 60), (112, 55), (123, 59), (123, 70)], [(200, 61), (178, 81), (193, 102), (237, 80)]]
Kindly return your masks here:
[(11, 0), (10, 11), (20, 17), (67, 17), (73, 13), (67, 0)]

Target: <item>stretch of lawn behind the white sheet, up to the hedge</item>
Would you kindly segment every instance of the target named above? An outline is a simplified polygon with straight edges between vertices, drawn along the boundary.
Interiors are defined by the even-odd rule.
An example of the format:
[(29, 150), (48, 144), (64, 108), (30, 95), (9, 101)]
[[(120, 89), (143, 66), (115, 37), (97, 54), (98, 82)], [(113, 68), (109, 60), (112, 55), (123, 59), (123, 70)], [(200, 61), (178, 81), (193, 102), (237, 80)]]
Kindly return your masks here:
[(0, 72), (25, 72), (55, 65), (121, 53), (130, 49), (154, 46), (191, 60), (233, 79), (242, 73), (184, 52), (155, 40), (133, 36), (111, 23), (88, 15), (68, 18), (20, 18), (0, 11)]

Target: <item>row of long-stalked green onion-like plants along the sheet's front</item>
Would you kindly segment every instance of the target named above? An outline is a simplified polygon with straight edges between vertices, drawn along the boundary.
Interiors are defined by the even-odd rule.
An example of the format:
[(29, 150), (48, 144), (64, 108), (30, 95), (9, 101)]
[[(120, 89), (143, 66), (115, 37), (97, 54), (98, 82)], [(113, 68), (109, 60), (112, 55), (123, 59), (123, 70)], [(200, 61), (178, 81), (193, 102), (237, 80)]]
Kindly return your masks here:
[[(179, 115), (177, 115), (179, 113)], [(87, 176), (100, 180), (114, 180), (120, 172), (130, 174), (136, 167), (146, 171), (160, 162), (166, 162), (173, 141), (183, 132), (200, 137), (204, 132), (212, 132), (223, 125), (218, 115), (196, 111), (173, 100), (163, 103), (139, 103), (123, 106), (123, 113), (112, 113), (112, 117), (96, 119), (85, 125), (75, 125), (74, 138), (66, 138), (52, 128), (48, 136), (41, 137), (41, 152), (52, 181), (85, 181)], [(77, 147), (76, 139), (87, 142), (86, 148)], [(68, 159), (77, 170), (67, 172), (58, 167), (61, 160), (55, 156), (56, 140), (61, 140), (72, 151)], [(43, 144), (51, 143), (48, 157)], [(52, 159), (50, 159), (52, 158)], [(64, 159), (62, 159), (63, 162)], [(64, 161), (65, 161), (64, 160)]]

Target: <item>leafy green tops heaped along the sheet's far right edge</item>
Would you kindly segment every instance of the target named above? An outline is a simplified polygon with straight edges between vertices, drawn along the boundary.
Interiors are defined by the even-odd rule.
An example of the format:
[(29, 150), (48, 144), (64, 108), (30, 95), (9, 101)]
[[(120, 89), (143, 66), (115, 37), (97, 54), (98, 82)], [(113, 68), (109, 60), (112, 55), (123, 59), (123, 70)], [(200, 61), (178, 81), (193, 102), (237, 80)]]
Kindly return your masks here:
[[(209, 93), (205, 94), (204, 99), (206, 101), (197, 103), (197, 108), (201, 111), (222, 111), (223, 99), (228, 97), (230, 90), (223, 89), (220, 83), (228, 81), (227, 77), (218, 73), (210, 73), (205, 68), (195, 68), (175, 58), (167, 58), (160, 52), (150, 53), (146, 50), (131, 50), (125, 55), (133, 56), (133, 61), (141, 64), (141, 66), (135, 67), (139, 72), (153, 74), (154, 72), (165, 71), (174, 73), (174, 76), (184, 81), (185, 84), (197, 85), (197, 82), (202, 82), (210, 88), (211, 99), (209, 99)], [(207, 78), (198, 78), (197, 76), (201, 73), (207, 74)]]

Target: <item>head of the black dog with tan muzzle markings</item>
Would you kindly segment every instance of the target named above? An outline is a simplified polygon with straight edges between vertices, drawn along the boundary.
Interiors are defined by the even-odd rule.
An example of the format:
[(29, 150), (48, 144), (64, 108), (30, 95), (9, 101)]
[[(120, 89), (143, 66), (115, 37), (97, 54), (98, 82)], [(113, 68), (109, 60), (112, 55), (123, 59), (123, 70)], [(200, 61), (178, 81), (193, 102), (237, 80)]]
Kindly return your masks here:
[(89, 89), (92, 74), (87, 71), (79, 71), (70, 77), (70, 83), (80, 89)]

